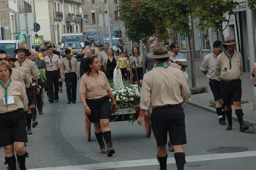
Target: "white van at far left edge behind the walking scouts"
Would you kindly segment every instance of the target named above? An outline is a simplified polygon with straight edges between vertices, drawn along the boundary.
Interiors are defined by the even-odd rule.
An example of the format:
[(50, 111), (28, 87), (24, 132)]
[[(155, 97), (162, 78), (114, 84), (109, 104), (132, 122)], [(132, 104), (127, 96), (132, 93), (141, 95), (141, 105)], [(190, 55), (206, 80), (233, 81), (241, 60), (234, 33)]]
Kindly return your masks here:
[(19, 45), (23, 45), (22, 40), (0, 40), (0, 50), (10, 53), (13, 58), (18, 57), (13, 50), (17, 49)]

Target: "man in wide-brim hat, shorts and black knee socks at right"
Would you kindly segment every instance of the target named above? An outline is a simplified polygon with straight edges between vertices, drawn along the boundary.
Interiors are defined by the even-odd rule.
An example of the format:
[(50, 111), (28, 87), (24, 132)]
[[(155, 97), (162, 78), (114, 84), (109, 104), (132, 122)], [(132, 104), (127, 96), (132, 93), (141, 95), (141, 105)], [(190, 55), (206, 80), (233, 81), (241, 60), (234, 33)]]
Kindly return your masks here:
[(239, 122), (239, 130), (244, 131), (249, 129), (249, 126), (244, 124), (243, 110), (241, 108), (242, 86), (240, 77), (243, 71), (243, 59), (240, 52), (235, 50), (234, 38), (228, 36), (223, 43), (225, 49), (216, 59), (214, 73), (220, 77), (220, 92), (225, 105), (225, 114), (228, 119), (226, 130), (232, 129), (232, 102), (235, 106), (235, 113)]

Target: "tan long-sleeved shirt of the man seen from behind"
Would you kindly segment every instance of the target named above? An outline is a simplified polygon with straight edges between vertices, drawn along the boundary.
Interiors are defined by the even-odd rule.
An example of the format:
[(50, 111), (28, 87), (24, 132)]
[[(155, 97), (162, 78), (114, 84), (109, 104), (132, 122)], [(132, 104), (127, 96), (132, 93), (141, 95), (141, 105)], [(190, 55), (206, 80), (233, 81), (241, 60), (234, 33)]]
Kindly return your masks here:
[(190, 101), (187, 81), (179, 69), (156, 67), (144, 74), (140, 109)]

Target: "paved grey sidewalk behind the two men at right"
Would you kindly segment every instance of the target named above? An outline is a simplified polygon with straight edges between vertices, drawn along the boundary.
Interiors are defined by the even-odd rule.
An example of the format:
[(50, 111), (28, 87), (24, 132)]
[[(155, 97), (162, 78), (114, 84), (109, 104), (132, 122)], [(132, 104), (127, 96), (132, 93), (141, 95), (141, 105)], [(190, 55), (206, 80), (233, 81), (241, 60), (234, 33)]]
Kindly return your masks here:
[[(189, 61), (190, 65), (190, 61)], [(209, 79), (200, 71), (200, 60), (195, 60), (195, 72), (196, 72), (196, 87), (200, 86), (206, 86), (208, 87), (208, 93), (202, 93), (202, 94), (196, 94), (191, 95), (191, 104), (193, 106), (202, 108), (204, 110), (207, 110), (208, 112), (216, 113), (216, 109), (213, 107), (210, 107), (210, 101), (214, 100), (212, 91), (209, 86)], [(188, 86), (191, 87), (191, 69), (190, 66), (188, 66), (187, 69), (188, 72)], [(253, 126), (256, 124), (256, 111), (253, 110), (253, 103), (252, 103), (252, 86), (250, 82), (250, 73), (244, 72), (242, 73), (242, 76), (240, 78), (242, 80), (242, 101), (241, 107), (244, 112), (244, 123), (248, 124), (249, 126)], [(216, 115), (216, 121), (218, 117)], [(232, 105), (232, 119), (237, 121), (237, 117), (235, 114), (235, 107)], [(251, 129), (251, 128), (250, 128)]]

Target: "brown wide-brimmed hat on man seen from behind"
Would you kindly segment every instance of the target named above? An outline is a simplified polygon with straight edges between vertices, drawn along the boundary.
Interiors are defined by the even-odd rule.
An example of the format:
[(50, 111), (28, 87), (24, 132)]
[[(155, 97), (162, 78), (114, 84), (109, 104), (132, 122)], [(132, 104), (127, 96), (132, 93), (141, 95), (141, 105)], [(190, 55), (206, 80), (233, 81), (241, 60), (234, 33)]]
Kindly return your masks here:
[(163, 43), (157, 43), (153, 52), (148, 54), (148, 57), (150, 58), (166, 58), (173, 56), (174, 53), (171, 51), (168, 51), (166, 46)]

